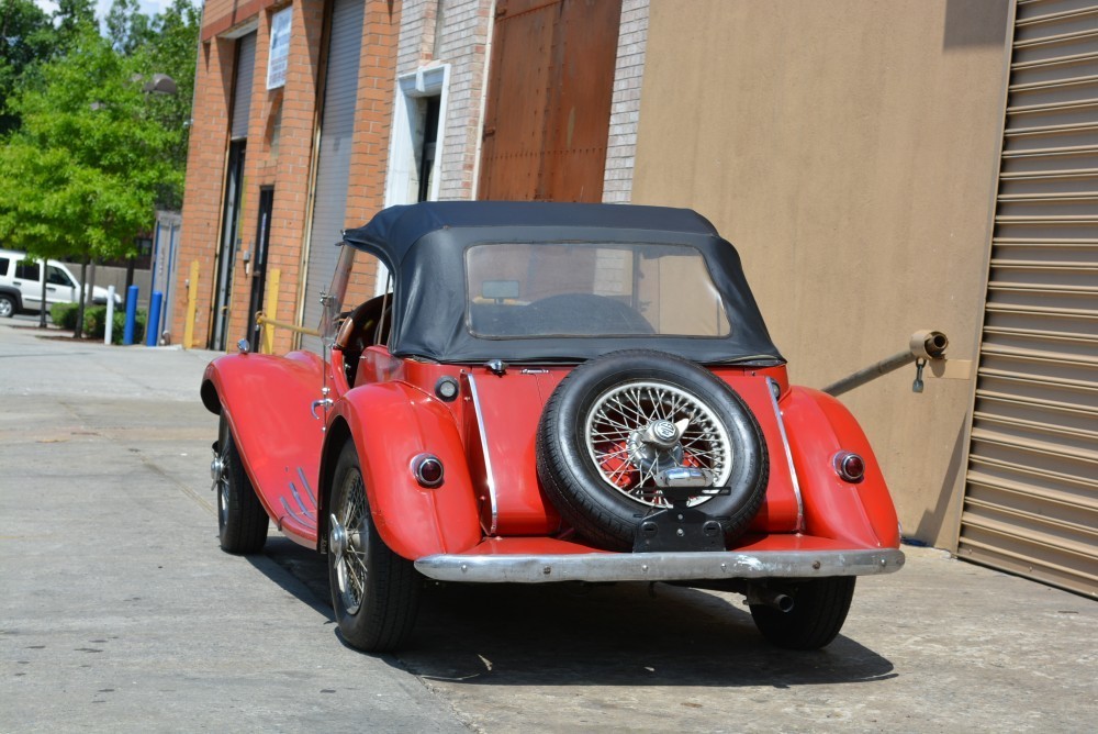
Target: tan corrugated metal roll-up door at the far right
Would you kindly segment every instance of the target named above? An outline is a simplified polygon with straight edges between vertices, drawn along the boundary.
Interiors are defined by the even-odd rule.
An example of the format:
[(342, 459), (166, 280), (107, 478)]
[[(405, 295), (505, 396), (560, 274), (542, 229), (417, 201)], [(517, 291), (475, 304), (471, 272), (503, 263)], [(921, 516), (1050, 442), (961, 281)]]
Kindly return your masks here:
[(1098, 597), (1098, 2), (1017, 4), (957, 554)]

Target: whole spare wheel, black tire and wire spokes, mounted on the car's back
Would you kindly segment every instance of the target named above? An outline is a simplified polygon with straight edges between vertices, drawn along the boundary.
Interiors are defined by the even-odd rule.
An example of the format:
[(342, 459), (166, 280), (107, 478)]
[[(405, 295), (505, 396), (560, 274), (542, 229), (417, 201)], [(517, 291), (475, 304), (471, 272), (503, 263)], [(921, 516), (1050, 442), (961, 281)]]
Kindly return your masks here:
[(686, 359), (614, 352), (572, 370), (538, 424), (537, 469), (561, 518), (608, 550), (630, 550), (641, 519), (670, 507), (668, 469), (703, 474), (688, 505), (739, 537), (766, 492), (769, 455), (751, 410), (726, 382)]

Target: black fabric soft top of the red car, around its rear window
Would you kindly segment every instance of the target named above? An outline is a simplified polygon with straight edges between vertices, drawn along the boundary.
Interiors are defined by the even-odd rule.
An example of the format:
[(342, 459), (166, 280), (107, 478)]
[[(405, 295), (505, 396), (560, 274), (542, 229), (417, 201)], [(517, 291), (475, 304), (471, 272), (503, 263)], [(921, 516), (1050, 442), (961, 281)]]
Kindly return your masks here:
[[(378, 257), (394, 278), (390, 348), (447, 363), (578, 363), (652, 348), (702, 364), (784, 362), (770, 340), (731, 244), (690, 209), (519, 201), (439, 201), (390, 207), (344, 242)], [(696, 247), (735, 324), (724, 337), (552, 336), (485, 338), (467, 325), (464, 252), (492, 243), (651, 243)]]

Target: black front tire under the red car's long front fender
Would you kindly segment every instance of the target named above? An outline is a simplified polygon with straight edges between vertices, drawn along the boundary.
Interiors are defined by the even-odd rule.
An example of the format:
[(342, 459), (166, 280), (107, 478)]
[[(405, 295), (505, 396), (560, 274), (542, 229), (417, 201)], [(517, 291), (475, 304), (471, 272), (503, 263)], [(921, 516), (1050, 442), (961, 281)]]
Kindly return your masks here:
[(221, 474), (215, 480), (217, 491), (217, 531), (221, 549), (250, 555), (262, 550), (267, 543), (270, 521), (256, 494), (248, 472), (244, 470), (228, 421), (221, 418), (217, 437), (217, 460)]

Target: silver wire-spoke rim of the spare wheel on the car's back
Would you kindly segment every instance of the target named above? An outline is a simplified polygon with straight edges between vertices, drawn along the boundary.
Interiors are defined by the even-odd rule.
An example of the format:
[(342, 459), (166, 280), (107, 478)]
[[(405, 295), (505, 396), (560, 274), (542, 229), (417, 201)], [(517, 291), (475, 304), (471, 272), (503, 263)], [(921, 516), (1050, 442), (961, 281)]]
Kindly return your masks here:
[[(614, 386), (587, 412), (587, 453), (603, 479), (630, 500), (670, 507), (660, 492), (660, 474), (672, 468), (704, 469), (709, 486), (724, 487), (735, 456), (728, 432), (697, 397), (663, 381)], [(712, 499), (698, 494), (691, 505)]]

